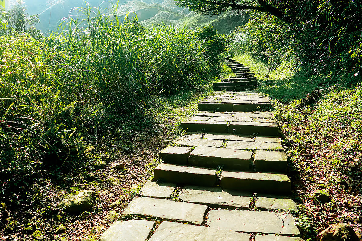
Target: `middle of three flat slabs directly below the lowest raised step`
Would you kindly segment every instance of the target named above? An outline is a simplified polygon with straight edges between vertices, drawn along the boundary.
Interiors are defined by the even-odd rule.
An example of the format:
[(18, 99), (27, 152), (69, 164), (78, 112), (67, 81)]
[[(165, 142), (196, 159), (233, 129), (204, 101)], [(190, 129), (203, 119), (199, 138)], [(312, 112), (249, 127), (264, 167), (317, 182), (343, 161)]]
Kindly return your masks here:
[(184, 186), (178, 197), (185, 202), (205, 204), (210, 207), (248, 209), (251, 194), (222, 190), (215, 187)]

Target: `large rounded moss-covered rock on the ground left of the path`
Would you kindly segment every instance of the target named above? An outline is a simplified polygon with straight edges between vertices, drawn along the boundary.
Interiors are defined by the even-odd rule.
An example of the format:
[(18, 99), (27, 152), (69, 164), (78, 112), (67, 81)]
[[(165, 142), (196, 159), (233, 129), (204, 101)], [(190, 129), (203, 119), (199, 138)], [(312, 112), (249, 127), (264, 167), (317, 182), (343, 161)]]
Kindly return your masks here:
[(57, 207), (62, 209), (64, 212), (73, 214), (79, 214), (84, 211), (88, 211), (93, 207), (95, 191), (92, 190), (80, 190), (76, 193), (71, 193), (61, 201)]

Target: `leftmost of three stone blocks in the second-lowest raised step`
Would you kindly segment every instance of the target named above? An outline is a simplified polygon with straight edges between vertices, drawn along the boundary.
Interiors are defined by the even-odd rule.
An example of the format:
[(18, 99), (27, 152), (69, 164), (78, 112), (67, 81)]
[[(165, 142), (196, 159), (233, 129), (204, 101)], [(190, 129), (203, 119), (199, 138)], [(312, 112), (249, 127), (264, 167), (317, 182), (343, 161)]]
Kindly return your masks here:
[(190, 153), (191, 147), (168, 146), (160, 151), (159, 156), (163, 162), (186, 165)]

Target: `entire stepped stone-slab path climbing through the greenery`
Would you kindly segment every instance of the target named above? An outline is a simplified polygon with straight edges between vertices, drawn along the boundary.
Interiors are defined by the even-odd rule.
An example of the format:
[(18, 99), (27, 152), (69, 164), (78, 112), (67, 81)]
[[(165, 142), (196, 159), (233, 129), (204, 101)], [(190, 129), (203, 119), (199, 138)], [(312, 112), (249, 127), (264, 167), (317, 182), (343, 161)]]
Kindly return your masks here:
[(257, 85), (248, 68), (224, 62), (236, 77), (214, 89), (227, 91), (215, 91), (181, 123), (185, 134), (160, 152), (155, 181), (122, 213), (134, 220), (114, 222), (101, 241), (302, 241), (271, 104), (240, 91)]

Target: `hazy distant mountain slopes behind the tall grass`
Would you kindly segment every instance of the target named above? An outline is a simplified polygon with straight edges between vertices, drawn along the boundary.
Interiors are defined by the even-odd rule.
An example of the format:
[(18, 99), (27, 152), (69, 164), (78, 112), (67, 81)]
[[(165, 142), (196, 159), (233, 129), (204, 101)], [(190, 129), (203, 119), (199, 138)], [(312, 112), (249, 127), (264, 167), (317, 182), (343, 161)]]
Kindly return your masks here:
[[(111, 1), (116, 2), (116, 0)], [(107, 8), (110, 7), (111, 1), (88, 0), (87, 2), (94, 7)], [(8, 0), (7, 8), (12, 7), (16, 2), (17, 0)], [(23, 0), (23, 2), (27, 13), (30, 15), (38, 14), (40, 22), (36, 27), (42, 30), (43, 34), (47, 33), (48, 30), (56, 31), (62, 18), (74, 14), (72, 9), (85, 7), (84, 0)], [(144, 27), (162, 23), (183, 26), (186, 23), (187, 26), (195, 28), (212, 24), (215, 27), (218, 26), (217, 29), (220, 33), (229, 33), (235, 26), (243, 23), (243, 17), (237, 17), (231, 22), (220, 24), (220, 18), (217, 16), (202, 16), (190, 12), (187, 8), (178, 7), (174, 0), (120, 0), (118, 11), (119, 14), (122, 14), (122, 12), (135, 12), (139, 22)]]

